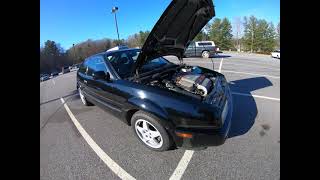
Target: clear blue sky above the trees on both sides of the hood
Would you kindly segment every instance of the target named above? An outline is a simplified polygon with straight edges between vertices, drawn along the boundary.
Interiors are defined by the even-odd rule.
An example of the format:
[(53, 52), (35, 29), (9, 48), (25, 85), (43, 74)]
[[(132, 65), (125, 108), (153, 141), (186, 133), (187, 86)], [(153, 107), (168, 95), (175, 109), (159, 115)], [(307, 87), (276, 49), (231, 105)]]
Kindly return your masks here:
[[(117, 39), (113, 6), (117, 12), (120, 39), (140, 30), (151, 30), (171, 0), (40, 0), (40, 46), (47, 40), (69, 49), (88, 39)], [(280, 21), (280, 0), (213, 0), (216, 16), (254, 15), (275, 26)], [(214, 19), (213, 18), (213, 19)]]

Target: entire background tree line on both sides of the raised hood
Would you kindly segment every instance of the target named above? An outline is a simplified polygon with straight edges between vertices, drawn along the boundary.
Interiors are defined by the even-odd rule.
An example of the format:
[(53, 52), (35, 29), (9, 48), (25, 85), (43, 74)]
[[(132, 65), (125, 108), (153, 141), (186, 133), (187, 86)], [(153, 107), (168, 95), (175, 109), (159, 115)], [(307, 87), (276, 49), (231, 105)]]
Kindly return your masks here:
[[(40, 72), (60, 71), (61, 67), (82, 62), (86, 57), (106, 51), (119, 44), (142, 47), (150, 31), (140, 31), (127, 39), (88, 39), (74, 44), (67, 50), (59, 43), (47, 40), (40, 47)], [(227, 18), (215, 18), (194, 38), (195, 41), (212, 40), (223, 50), (238, 50), (255, 53), (270, 53), (280, 48), (280, 23), (277, 27), (254, 16), (235, 18), (233, 24)]]

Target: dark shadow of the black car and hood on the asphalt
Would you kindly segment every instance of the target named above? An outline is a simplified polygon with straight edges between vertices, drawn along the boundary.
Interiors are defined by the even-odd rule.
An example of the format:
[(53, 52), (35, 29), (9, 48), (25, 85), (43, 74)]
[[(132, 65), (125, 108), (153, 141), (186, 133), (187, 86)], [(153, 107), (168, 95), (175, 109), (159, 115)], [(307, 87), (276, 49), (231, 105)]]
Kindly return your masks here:
[[(258, 114), (257, 104), (251, 92), (272, 85), (271, 81), (265, 77), (230, 82), (230, 89), (233, 92), (233, 114), (228, 138), (243, 135), (251, 129)], [(247, 96), (235, 93), (247, 94)]]

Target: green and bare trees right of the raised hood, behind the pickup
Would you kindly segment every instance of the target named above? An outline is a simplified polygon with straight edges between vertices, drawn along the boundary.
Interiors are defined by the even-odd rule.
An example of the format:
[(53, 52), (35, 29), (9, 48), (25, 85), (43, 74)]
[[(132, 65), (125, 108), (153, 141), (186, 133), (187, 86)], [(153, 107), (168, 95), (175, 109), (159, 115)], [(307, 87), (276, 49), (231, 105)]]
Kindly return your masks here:
[(212, 40), (221, 50), (269, 54), (280, 48), (280, 22), (275, 28), (272, 22), (254, 16), (237, 17), (233, 25), (227, 18), (215, 18), (195, 40)]

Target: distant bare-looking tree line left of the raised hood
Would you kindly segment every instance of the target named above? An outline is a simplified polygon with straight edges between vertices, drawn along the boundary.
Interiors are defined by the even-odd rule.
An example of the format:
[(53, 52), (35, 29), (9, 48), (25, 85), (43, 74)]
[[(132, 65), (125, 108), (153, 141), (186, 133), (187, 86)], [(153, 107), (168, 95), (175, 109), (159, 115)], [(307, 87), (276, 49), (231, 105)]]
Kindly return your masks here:
[(120, 41), (109, 38), (101, 40), (88, 39), (74, 44), (68, 50), (61, 48), (60, 44), (55, 41), (47, 40), (44, 46), (40, 47), (40, 73), (61, 71), (63, 66), (81, 63), (85, 58), (107, 51), (119, 44), (129, 47), (141, 47), (149, 33), (150, 31), (140, 31)]

